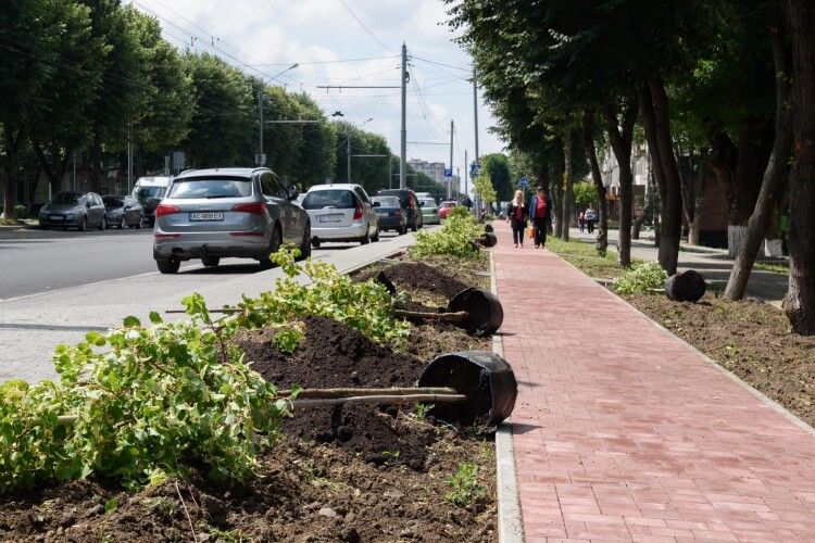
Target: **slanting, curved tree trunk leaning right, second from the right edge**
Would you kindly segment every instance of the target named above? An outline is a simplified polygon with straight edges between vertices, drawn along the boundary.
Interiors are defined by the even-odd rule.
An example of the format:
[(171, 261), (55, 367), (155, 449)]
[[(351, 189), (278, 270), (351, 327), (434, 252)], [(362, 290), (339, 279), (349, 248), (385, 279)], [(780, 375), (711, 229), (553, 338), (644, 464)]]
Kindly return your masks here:
[(788, 77), (787, 53), (777, 27), (770, 29), (770, 42), (776, 73), (776, 138), (767, 168), (764, 171), (755, 209), (748, 222), (743, 243), (739, 248), (725, 288), (725, 298), (728, 300), (741, 300), (744, 296), (755, 256), (773, 218), (792, 144), (792, 116), (786, 106), (790, 92), (790, 85), (786, 79)]

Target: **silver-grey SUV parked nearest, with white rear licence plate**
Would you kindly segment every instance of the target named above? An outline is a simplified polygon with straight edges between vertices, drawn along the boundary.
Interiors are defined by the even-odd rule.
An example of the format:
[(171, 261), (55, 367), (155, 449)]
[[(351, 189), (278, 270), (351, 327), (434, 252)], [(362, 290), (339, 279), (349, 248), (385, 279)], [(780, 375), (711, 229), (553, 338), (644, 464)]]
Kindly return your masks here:
[(181, 261), (201, 258), (217, 266), (222, 257), (268, 256), (284, 244), (311, 254), (309, 215), (292, 203), (297, 190), (267, 168), (215, 168), (181, 173), (155, 207), (153, 258), (162, 274), (178, 272)]

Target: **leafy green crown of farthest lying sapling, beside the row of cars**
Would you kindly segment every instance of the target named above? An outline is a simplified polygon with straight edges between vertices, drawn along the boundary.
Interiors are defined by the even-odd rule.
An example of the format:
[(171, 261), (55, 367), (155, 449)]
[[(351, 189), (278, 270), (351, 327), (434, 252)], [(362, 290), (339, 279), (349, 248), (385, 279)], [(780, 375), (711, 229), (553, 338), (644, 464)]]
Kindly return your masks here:
[(466, 207), (453, 207), (444, 223), (438, 230), (419, 230), (416, 232), (416, 244), (411, 252), (416, 257), (431, 254), (449, 254), (452, 256), (475, 258), (480, 255), (473, 248), (473, 239), (484, 232), (484, 226), (473, 217)]

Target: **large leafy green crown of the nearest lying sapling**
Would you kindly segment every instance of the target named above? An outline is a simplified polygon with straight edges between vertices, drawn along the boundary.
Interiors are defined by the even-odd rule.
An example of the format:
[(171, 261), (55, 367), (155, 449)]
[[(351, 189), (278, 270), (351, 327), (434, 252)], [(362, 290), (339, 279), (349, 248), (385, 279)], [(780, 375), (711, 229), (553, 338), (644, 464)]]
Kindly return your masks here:
[(214, 481), (254, 475), (289, 403), (228, 342), (236, 324), (214, 324), (200, 294), (184, 304), (189, 320), (127, 317), (59, 345), (59, 382), (0, 387), (0, 493), (91, 473), (135, 488), (201, 464)]

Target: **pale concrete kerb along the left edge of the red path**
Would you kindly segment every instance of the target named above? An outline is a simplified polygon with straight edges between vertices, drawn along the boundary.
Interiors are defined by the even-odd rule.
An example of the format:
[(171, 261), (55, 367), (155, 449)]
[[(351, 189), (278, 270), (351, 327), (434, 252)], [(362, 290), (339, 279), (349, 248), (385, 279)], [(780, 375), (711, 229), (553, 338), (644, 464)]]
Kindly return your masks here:
[[(498, 295), (496, 261), (492, 251), (490, 251), (490, 290)], [(503, 357), (503, 341), (499, 334), (492, 336), (492, 352)], [(524, 541), (524, 523), (518, 500), (510, 418), (496, 429), (496, 487), (498, 488), (498, 541), (499, 543), (521, 543)]]

